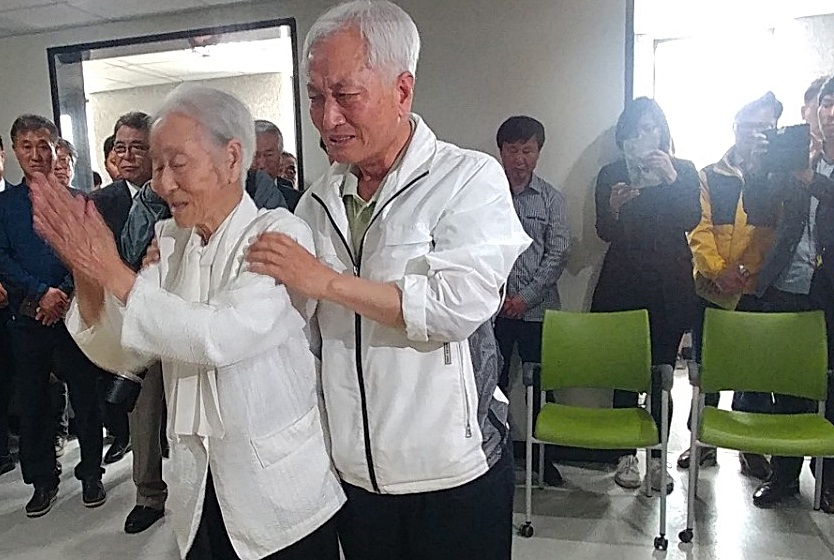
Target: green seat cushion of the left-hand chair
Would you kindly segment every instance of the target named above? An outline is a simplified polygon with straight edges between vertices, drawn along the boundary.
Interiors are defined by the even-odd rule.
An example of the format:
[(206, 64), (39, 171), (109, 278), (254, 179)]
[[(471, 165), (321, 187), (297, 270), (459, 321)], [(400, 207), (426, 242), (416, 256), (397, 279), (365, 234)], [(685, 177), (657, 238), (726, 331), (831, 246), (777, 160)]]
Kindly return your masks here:
[(643, 408), (586, 408), (548, 403), (536, 420), (540, 441), (588, 449), (651, 447), (657, 425)]

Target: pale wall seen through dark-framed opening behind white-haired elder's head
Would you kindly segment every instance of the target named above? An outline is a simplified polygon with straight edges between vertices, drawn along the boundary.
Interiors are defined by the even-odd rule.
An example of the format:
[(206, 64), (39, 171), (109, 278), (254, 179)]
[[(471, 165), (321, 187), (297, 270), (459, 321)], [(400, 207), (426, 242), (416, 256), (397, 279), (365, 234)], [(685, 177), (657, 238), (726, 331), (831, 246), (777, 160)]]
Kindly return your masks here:
[[(278, 125), (284, 134), (285, 145), (294, 152), (295, 115), (292, 112), (292, 95), (286, 96), (282, 91), (285, 87), (292, 91), (291, 80), (292, 76), (289, 75), (269, 73), (190, 83), (210, 86), (237, 96), (249, 107), (253, 118), (266, 119)], [(177, 84), (159, 84), (89, 95), (87, 118), (93, 121), (91, 136), (94, 140), (90, 147), (93, 169), (106, 177), (101, 150), (104, 140), (113, 134), (113, 125), (119, 117), (129, 111), (144, 111), (152, 115), (175, 87)], [(282, 100), (288, 97), (289, 103), (278, 103), (276, 97)]]

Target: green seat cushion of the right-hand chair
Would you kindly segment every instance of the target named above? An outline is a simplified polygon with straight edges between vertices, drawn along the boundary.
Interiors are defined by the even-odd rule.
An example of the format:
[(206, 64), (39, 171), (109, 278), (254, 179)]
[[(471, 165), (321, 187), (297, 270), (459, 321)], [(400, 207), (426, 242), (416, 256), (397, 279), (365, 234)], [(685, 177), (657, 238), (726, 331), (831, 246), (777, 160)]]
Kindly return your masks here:
[(762, 455), (834, 456), (834, 426), (818, 414), (759, 414), (707, 406), (699, 439)]

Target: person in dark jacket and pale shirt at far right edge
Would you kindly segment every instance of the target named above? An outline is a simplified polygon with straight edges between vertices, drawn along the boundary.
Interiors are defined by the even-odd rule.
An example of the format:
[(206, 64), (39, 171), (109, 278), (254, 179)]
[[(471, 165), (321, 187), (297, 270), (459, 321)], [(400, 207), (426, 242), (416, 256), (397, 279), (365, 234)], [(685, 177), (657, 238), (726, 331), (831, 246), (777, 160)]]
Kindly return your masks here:
[[(756, 292), (764, 311), (797, 312), (822, 309), (828, 323), (829, 368), (834, 364), (834, 80), (819, 93), (821, 149), (812, 149), (808, 169), (786, 174), (760, 173), (745, 189), (748, 222), (775, 227), (776, 238), (765, 258)], [(830, 387), (829, 387), (830, 389)], [(829, 420), (834, 398), (829, 398)], [(815, 403), (791, 395), (773, 395), (773, 412), (813, 412)], [(822, 509), (834, 513), (834, 465), (826, 460)], [(799, 492), (802, 459), (771, 459), (771, 477), (753, 494), (753, 503), (768, 507)]]

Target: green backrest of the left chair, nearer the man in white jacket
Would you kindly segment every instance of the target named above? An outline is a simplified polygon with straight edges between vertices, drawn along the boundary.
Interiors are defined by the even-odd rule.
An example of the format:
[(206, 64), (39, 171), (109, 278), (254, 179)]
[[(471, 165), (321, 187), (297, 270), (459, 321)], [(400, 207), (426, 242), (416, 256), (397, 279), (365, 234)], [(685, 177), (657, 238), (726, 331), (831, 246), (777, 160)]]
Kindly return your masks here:
[(542, 390), (569, 387), (648, 392), (649, 314), (548, 310), (542, 328)]

